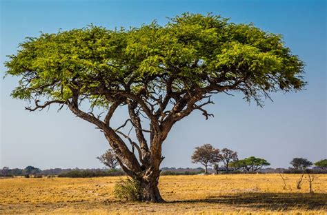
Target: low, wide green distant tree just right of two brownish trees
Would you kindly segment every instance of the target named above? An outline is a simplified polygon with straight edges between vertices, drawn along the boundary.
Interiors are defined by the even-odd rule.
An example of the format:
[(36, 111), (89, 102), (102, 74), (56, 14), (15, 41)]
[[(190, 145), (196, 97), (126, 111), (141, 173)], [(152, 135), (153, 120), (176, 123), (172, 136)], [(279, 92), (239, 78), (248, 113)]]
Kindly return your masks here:
[(230, 166), (235, 167), (236, 170), (243, 168), (247, 172), (255, 172), (268, 165), (270, 165), (270, 163), (268, 163), (265, 159), (256, 158), (255, 156), (250, 156), (248, 158), (244, 158), (243, 160), (230, 163)]

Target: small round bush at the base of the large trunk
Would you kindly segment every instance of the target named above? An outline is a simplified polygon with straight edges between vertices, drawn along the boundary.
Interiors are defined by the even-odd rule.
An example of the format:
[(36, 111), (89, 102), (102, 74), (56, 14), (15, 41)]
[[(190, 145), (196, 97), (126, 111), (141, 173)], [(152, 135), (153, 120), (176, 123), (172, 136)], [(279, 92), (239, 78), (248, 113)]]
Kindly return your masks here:
[(141, 185), (134, 178), (119, 181), (113, 194), (120, 201), (141, 201), (143, 196)]

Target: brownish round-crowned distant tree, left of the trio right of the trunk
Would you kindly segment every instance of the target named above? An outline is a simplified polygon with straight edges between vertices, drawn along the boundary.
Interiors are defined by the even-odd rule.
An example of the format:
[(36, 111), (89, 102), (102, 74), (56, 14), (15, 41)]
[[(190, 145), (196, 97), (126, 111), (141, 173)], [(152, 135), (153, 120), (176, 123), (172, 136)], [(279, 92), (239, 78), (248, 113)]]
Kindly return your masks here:
[(204, 174), (208, 173), (208, 166), (219, 162), (219, 149), (215, 149), (210, 144), (195, 147), (192, 154), (192, 163), (201, 163), (205, 167)]

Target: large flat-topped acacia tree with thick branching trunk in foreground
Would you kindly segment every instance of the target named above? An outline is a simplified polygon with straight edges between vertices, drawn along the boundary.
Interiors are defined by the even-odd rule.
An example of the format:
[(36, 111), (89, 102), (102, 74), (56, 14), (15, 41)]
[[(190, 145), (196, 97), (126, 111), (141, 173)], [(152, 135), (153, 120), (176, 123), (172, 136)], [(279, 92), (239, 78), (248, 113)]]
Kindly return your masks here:
[[(212, 14), (129, 30), (91, 25), (42, 33), (21, 43), (5, 65), (7, 75), (20, 78), (12, 97), (31, 101), (26, 110), (57, 104), (94, 124), (143, 187), (143, 200), (154, 202), (164, 201), (157, 187), (161, 145), (177, 121), (194, 110), (212, 116), (205, 109), (212, 94), (240, 92), (262, 106), (271, 92), (305, 85), (304, 64), (279, 34)], [(129, 119), (113, 127), (120, 106)], [(127, 124), (136, 139), (123, 132)]]

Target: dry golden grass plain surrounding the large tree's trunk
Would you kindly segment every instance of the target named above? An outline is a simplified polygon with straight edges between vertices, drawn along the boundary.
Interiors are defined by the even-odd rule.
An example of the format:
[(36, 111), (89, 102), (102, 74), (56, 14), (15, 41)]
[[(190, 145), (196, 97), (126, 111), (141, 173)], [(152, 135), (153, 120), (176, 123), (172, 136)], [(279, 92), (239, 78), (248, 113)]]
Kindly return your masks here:
[(0, 180), (0, 214), (326, 214), (327, 175), (317, 174), (314, 194), (299, 174), (161, 176), (168, 203), (123, 203), (112, 195), (123, 177), (6, 178)]

